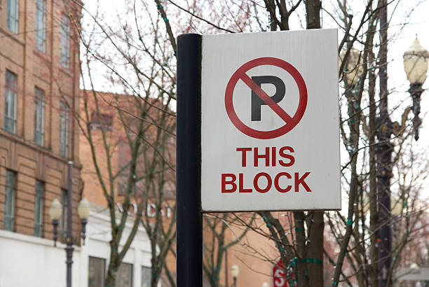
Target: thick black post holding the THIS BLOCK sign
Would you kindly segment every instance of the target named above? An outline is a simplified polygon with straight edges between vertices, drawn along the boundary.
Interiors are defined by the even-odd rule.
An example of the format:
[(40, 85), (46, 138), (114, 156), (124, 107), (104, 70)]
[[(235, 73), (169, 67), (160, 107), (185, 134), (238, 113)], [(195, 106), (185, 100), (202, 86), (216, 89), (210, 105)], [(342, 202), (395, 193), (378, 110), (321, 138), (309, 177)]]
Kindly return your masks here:
[(177, 287), (203, 286), (201, 36), (177, 37)]

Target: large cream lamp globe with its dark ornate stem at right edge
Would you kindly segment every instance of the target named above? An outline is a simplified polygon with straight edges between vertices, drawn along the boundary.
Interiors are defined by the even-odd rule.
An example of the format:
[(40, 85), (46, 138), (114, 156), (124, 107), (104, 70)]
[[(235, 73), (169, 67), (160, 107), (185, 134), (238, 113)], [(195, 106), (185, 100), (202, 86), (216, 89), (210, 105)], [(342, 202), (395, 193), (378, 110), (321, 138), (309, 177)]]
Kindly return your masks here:
[(422, 85), (425, 83), (428, 73), (429, 52), (425, 50), (418, 42), (414, 40), (413, 45), (404, 52), (404, 70), (409, 80), (409, 93), (413, 98), (413, 126), (414, 139), (418, 140), (418, 128), (421, 125), (421, 119), (418, 117), (420, 113), (420, 100)]

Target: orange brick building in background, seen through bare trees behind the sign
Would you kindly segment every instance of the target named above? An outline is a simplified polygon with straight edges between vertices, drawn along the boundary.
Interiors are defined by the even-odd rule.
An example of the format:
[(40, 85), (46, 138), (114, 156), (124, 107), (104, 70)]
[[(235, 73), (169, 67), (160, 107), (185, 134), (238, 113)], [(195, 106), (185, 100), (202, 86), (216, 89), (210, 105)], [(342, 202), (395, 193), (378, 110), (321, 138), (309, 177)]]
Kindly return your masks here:
[[(88, 109), (87, 113), (89, 115), (88, 120), (90, 121), (90, 127), (91, 127), (91, 134), (92, 134), (92, 141), (95, 146), (95, 151), (97, 153), (97, 163), (100, 168), (101, 174), (104, 174), (105, 183), (109, 184), (109, 176), (108, 171), (112, 172), (112, 174), (116, 174), (119, 170), (121, 170), (122, 167), (127, 165), (130, 162), (130, 149), (128, 146), (128, 142), (125, 136), (123, 123), (121, 123), (121, 118), (118, 116), (118, 111), (116, 109), (116, 104), (119, 103), (119, 106), (121, 106), (122, 109), (127, 109), (129, 112), (132, 112), (133, 114), (136, 114), (135, 111), (133, 111), (132, 105), (128, 102), (127, 99), (132, 98), (130, 95), (124, 95), (124, 94), (111, 94), (107, 92), (95, 92), (93, 94), (93, 91), (82, 91), (82, 93), (86, 93), (86, 97), (88, 99), (84, 101), (84, 96), (81, 97), (81, 108), (80, 111), (83, 114), (84, 109)], [(94, 97), (97, 97), (97, 106), (98, 106), (98, 112), (97, 107), (94, 103)], [(86, 104), (86, 107), (84, 106), (84, 103)], [(134, 104), (133, 101), (131, 101), (132, 104)], [(151, 110), (148, 114), (152, 116), (152, 118), (156, 117), (156, 113), (158, 111)], [(130, 123), (130, 122), (128, 122)], [(125, 124), (128, 126), (128, 124)], [(132, 124), (131, 124), (132, 125)], [(107, 156), (106, 151), (104, 149), (104, 139), (102, 137), (102, 130), (106, 131), (105, 133), (105, 139), (110, 147), (109, 151), (109, 159), (110, 159), (110, 168), (107, 167)], [(131, 130), (135, 130), (132, 129)], [(131, 132), (132, 134), (132, 132)], [(99, 206), (100, 210), (103, 210), (100, 207), (104, 207), (104, 212), (107, 211), (107, 200), (106, 197), (104, 197), (103, 190), (100, 187), (99, 179), (97, 178), (97, 172), (95, 170), (94, 164), (93, 164), (93, 155), (91, 152), (90, 144), (88, 144), (88, 140), (86, 137), (84, 137), (83, 133), (80, 134), (81, 142), (79, 144), (80, 149), (79, 153), (81, 155), (81, 163), (83, 165), (81, 176), (83, 181), (85, 182), (85, 187), (83, 189), (83, 195), (92, 202), (93, 204), (97, 204)], [(145, 139), (152, 141), (151, 134), (148, 133), (145, 136)], [(172, 141), (168, 141), (168, 144), (170, 144), (170, 154), (174, 157), (175, 156), (175, 140), (172, 138)], [(172, 162), (175, 162), (175, 158), (171, 158), (170, 160)], [(139, 158), (139, 161), (143, 161), (144, 158)], [(144, 167), (140, 167), (140, 169), (137, 171), (137, 174), (141, 175), (144, 173)], [(171, 174), (170, 174), (171, 176)], [(173, 175), (174, 177), (174, 175)], [(165, 200), (165, 206), (163, 206), (163, 217), (164, 217), (164, 223), (168, 224), (170, 223), (170, 218), (172, 218), (172, 209), (168, 208), (168, 204), (170, 206), (174, 206), (175, 204), (175, 179), (170, 178), (170, 185), (165, 186), (168, 188), (168, 195), (166, 196)], [(115, 181), (114, 186), (114, 198), (116, 203), (116, 208), (118, 210), (121, 209), (121, 202), (123, 201), (123, 190), (121, 187), (124, 186), (124, 183), (121, 182), (121, 177), (119, 176), (118, 179)], [(141, 188), (143, 190), (142, 186), (137, 186), (137, 188)], [(110, 187), (108, 190), (111, 190)], [(131, 199), (134, 201), (134, 199)], [(151, 199), (148, 199), (148, 202), (151, 202)], [(130, 208), (130, 218), (129, 220), (132, 221), (132, 213), (135, 212), (135, 207), (132, 206)], [(154, 207), (151, 207), (150, 204), (148, 204), (147, 209), (145, 212), (150, 215), (154, 213)], [(280, 220), (285, 220), (285, 217), (280, 216), (280, 214), (276, 215), (280, 218)], [(222, 225), (222, 223), (220, 224)], [(259, 223), (258, 225), (263, 225), (263, 221)], [(226, 226), (226, 225), (225, 225)], [(220, 229), (222, 226), (218, 226)], [(233, 228), (233, 231), (230, 229)], [(236, 239), (237, 235), (240, 235), (241, 232), (243, 232), (242, 228), (237, 228), (235, 226), (230, 226), (230, 228), (227, 228), (225, 231), (225, 241), (230, 242)], [(109, 236), (106, 234), (106, 236)], [(141, 232), (141, 234), (138, 237), (135, 237), (135, 240), (149, 240), (147, 238), (147, 235), (144, 231)], [(210, 241), (212, 239), (212, 232), (210, 231), (210, 228), (205, 228), (204, 230), (204, 240), (205, 244), (207, 246), (210, 246), (212, 242)], [(143, 240), (143, 241), (144, 241)], [(147, 242), (146, 242), (147, 244)], [(217, 243), (215, 243), (217, 244)], [(214, 244), (214, 245), (215, 245)], [(267, 256), (267, 258), (275, 258), (276, 250), (275, 246), (271, 244), (271, 241), (267, 241), (264, 237), (261, 237), (257, 232), (252, 232), (251, 230), (247, 232), (247, 235), (242, 239), (242, 244), (249, 244), (254, 250), (261, 252), (261, 254), (264, 254)], [(225, 273), (225, 269), (228, 269), (228, 271), (231, 269), (232, 265), (238, 265), (240, 267), (240, 276), (238, 278), (238, 286), (262, 286), (262, 283), (264, 282), (270, 282), (270, 274), (272, 269), (272, 262), (266, 262), (262, 260), (262, 255), (258, 255), (256, 251), (253, 251), (252, 248), (247, 248), (246, 246), (243, 246), (242, 244), (236, 244), (228, 249), (228, 258), (226, 259), (224, 254), (224, 259), (222, 260), (222, 271), (220, 272), (220, 280), (219, 283), (221, 286), (226, 286), (226, 282), (229, 282), (229, 286), (232, 286), (233, 278), (231, 276), (231, 272)], [(135, 244), (140, 245), (142, 244)], [(144, 246), (144, 245), (143, 245)], [(147, 248), (147, 247), (146, 247)], [(173, 249), (175, 248), (175, 244), (173, 244)], [(144, 251), (144, 248), (142, 248), (142, 251)], [(125, 267), (132, 270), (132, 272), (128, 272), (128, 274), (138, 274), (138, 280), (141, 283), (147, 283), (150, 282), (150, 276), (149, 268), (151, 266), (150, 263), (150, 253), (143, 253), (144, 255), (137, 255), (135, 249), (131, 249), (129, 251), (128, 258), (125, 258), (124, 263)], [(210, 252), (210, 251), (207, 251)], [(216, 247), (213, 250), (214, 257), (216, 257)], [(258, 258), (259, 256), (259, 258)], [(146, 265), (139, 265), (139, 263), (136, 263), (135, 258), (144, 258), (143, 262), (147, 262)], [(225, 260), (226, 259), (226, 260)], [(104, 253), (104, 255), (99, 255), (97, 260), (102, 260), (104, 262), (104, 266), (106, 266), (106, 262), (108, 260), (107, 253)], [(166, 258), (166, 262), (168, 265), (168, 269), (170, 270), (172, 276), (174, 277), (176, 274), (176, 260), (175, 256), (172, 255), (172, 253), (169, 253), (168, 257)], [(225, 265), (227, 265), (225, 267)], [(121, 267), (120, 267), (121, 268)], [(105, 269), (97, 269), (98, 274), (102, 274), (105, 272)], [(126, 274), (125, 270), (120, 270), (119, 273)], [(97, 276), (100, 277), (100, 276)], [(204, 283), (203, 286), (210, 286), (208, 283), (207, 276), (204, 276)], [(100, 280), (101, 281), (101, 280)], [(121, 286), (127, 286), (127, 287), (135, 287), (139, 286), (137, 283), (137, 280), (128, 281), (127, 284), (123, 284)], [(144, 286), (144, 285), (142, 285)], [(149, 286), (149, 285), (147, 285)], [(168, 283), (167, 276), (165, 274), (162, 274), (161, 276), (161, 286), (170, 286)]]

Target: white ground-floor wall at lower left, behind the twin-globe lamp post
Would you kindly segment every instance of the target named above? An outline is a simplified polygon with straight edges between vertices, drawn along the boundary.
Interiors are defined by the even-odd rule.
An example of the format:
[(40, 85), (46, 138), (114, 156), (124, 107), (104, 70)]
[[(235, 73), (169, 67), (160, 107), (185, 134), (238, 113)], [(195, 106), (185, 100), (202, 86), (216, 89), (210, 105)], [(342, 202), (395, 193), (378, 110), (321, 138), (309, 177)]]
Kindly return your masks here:
[[(129, 230), (127, 223), (124, 234), (127, 235)], [(88, 256), (104, 258), (108, 265), (110, 239), (109, 217), (91, 213), (86, 245), (74, 246), (73, 287), (88, 287)], [(54, 247), (50, 239), (0, 230), (0, 287), (65, 287), (64, 247), (58, 242)], [(142, 228), (139, 228), (123, 262), (134, 265), (133, 286), (142, 286), (142, 265), (151, 265), (150, 244)]]

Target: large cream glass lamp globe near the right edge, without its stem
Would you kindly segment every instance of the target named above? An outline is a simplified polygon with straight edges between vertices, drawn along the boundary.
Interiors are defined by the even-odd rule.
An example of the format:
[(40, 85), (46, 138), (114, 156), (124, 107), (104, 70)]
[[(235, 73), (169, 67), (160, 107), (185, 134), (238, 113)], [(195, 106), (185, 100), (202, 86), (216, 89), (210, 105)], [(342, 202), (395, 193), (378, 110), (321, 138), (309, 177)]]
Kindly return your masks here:
[(404, 52), (404, 70), (409, 83), (423, 84), (428, 73), (429, 52), (420, 45), (416, 38), (413, 45)]

